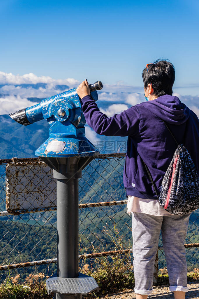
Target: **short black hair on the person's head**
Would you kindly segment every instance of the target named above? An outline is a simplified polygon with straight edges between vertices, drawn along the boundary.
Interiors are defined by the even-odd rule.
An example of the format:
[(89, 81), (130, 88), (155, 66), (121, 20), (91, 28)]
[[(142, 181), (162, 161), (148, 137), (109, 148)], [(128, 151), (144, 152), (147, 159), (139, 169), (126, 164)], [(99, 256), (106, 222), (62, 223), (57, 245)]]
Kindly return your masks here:
[(158, 59), (154, 63), (148, 65), (142, 72), (144, 81), (144, 89), (149, 83), (152, 84), (154, 94), (160, 97), (164, 94), (172, 95), (172, 87), (175, 81), (175, 68), (168, 60)]

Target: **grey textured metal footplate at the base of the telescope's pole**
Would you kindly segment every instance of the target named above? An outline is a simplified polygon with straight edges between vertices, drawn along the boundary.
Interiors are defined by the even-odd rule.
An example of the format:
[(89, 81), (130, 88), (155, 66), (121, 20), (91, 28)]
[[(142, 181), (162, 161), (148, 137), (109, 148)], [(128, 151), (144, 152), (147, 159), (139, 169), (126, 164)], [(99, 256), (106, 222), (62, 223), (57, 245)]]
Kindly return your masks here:
[(99, 292), (99, 286), (91, 276), (79, 273), (78, 277), (62, 278), (53, 274), (46, 280), (48, 295), (59, 293), (61, 295), (86, 295), (94, 290)]

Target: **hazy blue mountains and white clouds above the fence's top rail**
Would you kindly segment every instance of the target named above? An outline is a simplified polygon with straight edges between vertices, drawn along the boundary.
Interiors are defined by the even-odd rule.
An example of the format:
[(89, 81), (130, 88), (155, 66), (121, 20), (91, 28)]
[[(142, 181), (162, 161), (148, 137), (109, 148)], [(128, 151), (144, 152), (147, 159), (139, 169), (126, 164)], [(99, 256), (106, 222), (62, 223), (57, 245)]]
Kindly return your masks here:
[[(19, 76), (0, 72), (0, 159), (34, 157), (35, 150), (48, 138), (46, 120), (22, 126), (9, 117), (11, 112), (33, 106), (44, 98), (78, 86), (78, 83), (72, 78), (54, 80), (31, 73)], [(174, 95), (199, 115), (198, 96)], [(111, 117), (144, 100), (143, 88), (119, 83), (104, 85), (98, 91), (97, 104), (101, 112)], [(87, 124), (85, 129), (86, 137), (100, 153), (126, 152), (127, 137), (98, 135)]]

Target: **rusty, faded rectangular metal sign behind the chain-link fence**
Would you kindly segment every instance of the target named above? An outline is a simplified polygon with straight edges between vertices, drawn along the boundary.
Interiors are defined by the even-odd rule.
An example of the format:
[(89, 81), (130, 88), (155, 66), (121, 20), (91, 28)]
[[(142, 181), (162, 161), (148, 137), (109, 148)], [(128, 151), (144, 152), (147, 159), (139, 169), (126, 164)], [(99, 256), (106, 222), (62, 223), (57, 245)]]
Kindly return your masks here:
[(57, 206), (56, 179), (43, 161), (6, 165), (6, 209), (9, 213), (45, 211)]

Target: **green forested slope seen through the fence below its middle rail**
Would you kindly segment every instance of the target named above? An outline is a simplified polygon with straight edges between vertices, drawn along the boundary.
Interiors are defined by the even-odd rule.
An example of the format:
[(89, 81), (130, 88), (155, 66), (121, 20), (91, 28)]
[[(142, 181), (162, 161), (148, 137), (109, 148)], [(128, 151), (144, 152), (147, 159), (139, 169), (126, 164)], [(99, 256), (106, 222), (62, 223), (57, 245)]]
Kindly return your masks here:
[[(132, 248), (130, 229), (131, 218), (123, 209), (121, 209), (117, 212), (117, 215), (110, 218), (109, 223), (107, 223), (103, 219), (105, 208), (111, 209), (111, 207), (103, 207), (102, 209), (95, 208), (95, 217), (93, 217), (91, 210), (90, 213), (88, 212), (87, 215), (85, 215), (84, 209), (82, 209), (82, 214), (80, 214), (82, 216), (82, 220), (80, 221), (79, 239), (80, 254)], [(85, 219), (83, 219), (83, 216)], [(116, 233), (116, 231), (118, 233)], [(2, 221), (0, 219), (0, 235), (0, 263), (2, 265), (56, 258), (56, 228), (50, 224), (45, 224), (41, 227), (40, 225), (28, 225), (19, 222), (13, 222), (11, 220)], [(198, 232), (195, 230), (188, 231), (186, 242), (198, 242), (198, 237)], [(115, 245), (117, 244), (117, 239), (120, 239), (120, 246)], [(159, 244), (161, 244), (161, 241)], [(199, 267), (197, 251), (198, 248), (186, 248), (188, 271), (193, 271), (194, 268)], [(164, 251), (159, 250), (158, 255), (159, 269), (166, 267)], [(113, 262), (111, 256), (93, 258), (85, 261), (85, 263), (92, 267), (92, 269), (96, 269), (98, 266), (97, 263), (100, 262), (100, 267), (103, 268), (103, 258), (107, 260), (109, 263), (109, 268), (111, 268)], [(132, 253), (129, 254), (129, 259), (132, 264)], [(79, 266), (81, 266), (81, 261)], [(51, 263), (50, 265), (30, 266), (28, 268), (14, 269), (12, 271), (12, 275), (15, 273), (20, 274), (22, 279), (24, 279), (27, 275), (36, 272), (43, 272), (45, 275), (51, 275), (55, 269), (56, 264)], [(7, 276), (7, 271), (3, 271), (2, 273), (3, 276), (1, 279), (5, 279)]]

